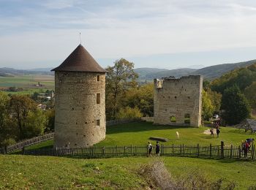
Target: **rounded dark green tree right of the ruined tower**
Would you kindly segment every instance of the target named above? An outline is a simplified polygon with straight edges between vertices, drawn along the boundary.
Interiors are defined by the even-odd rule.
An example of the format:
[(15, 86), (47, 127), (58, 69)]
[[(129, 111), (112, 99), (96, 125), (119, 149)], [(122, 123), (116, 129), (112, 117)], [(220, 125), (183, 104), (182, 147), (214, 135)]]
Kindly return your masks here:
[(227, 124), (238, 124), (249, 117), (250, 107), (238, 86), (227, 88), (222, 95), (222, 118)]

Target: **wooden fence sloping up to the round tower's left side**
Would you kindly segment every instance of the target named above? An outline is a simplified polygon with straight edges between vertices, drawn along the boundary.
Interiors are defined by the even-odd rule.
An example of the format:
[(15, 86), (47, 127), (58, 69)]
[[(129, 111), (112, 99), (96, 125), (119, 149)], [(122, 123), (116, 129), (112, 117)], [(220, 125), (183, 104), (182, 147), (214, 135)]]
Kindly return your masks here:
[(39, 137), (33, 137), (29, 140), (20, 141), (20, 142), (16, 143), (15, 145), (10, 145), (5, 148), (1, 148), (0, 153), (11, 153), (13, 151), (22, 150), (26, 146), (34, 145), (34, 144), (37, 144), (37, 143), (45, 141), (45, 140), (51, 140), (53, 138), (54, 138), (54, 132), (44, 134)]

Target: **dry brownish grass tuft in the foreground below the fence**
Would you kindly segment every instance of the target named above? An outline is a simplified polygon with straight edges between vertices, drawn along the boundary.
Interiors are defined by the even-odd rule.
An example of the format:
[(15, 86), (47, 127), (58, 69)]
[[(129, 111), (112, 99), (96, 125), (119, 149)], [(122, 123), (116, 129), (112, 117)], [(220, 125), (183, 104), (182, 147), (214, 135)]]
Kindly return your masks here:
[(145, 164), (140, 167), (140, 175), (143, 175), (147, 179), (148, 184), (151, 188), (159, 188), (165, 190), (175, 190), (175, 189), (229, 189), (233, 190), (236, 187), (236, 183), (229, 182), (227, 185), (223, 185), (224, 178), (219, 178), (219, 180), (211, 182), (207, 180), (206, 175), (200, 170), (195, 170), (189, 174), (183, 175), (176, 179), (170, 175), (167, 171), (164, 161), (162, 159), (156, 158), (149, 164)]

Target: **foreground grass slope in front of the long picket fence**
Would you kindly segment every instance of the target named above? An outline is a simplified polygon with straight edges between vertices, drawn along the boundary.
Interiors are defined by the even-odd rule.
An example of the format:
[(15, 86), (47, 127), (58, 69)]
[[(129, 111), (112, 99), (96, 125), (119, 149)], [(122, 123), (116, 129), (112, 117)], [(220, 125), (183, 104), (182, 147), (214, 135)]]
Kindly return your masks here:
[[(0, 189), (146, 189), (139, 174), (153, 158), (69, 159), (50, 156), (0, 155)], [(163, 158), (174, 178), (197, 170), (214, 181), (236, 181), (236, 189), (255, 184), (252, 161)]]

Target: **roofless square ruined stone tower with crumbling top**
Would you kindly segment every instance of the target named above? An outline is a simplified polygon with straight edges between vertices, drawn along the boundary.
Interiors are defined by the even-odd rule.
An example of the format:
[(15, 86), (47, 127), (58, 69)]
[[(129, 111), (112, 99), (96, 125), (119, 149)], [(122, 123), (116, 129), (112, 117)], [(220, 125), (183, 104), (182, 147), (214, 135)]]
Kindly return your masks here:
[(200, 126), (203, 78), (154, 79), (154, 123)]

